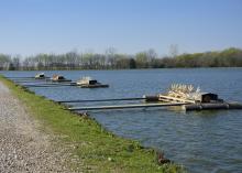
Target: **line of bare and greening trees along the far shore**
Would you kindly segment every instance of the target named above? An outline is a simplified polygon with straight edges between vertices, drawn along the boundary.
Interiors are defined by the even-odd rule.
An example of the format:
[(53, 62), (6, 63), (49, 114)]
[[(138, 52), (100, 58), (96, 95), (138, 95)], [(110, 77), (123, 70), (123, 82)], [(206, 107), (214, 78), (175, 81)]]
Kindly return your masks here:
[(77, 53), (37, 54), (21, 58), (0, 54), (1, 71), (44, 71), (44, 69), (132, 69), (170, 67), (242, 67), (242, 50), (228, 48), (221, 52), (194, 54), (172, 54), (158, 57), (154, 50), (135, 55), (118, 54), (113, 48), (105, 54)]

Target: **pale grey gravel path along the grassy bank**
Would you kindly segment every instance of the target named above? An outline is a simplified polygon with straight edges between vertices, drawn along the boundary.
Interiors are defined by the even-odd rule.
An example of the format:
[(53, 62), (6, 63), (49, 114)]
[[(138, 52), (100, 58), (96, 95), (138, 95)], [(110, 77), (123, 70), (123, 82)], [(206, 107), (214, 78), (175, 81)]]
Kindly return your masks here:
[(0, 82), (0, 173), (74, 172), (65, 165), (70, 159), (69, 149), (61, 149), (54, 134), (37, 127)]

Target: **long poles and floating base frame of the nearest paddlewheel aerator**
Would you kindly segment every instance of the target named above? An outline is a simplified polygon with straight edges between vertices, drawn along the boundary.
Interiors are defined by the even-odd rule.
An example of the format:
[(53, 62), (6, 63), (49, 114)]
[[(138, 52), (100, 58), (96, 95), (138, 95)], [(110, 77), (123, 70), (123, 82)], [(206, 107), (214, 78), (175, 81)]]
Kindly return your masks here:
[[(208, 96), (208, 95), (206, 95)], [(209, 95), (210, 96), (210, 95)], [(207, 98), (208, 99), (208, 98)], [(108, 106), (91, 106), (91, 107), (72, 107), (68, 110), (108, 110), (108, 109), (131, 109), (131, 108), (148, 108), (148, 107), (172, 107), (179, 110), (227, 110), (227, 109), (242, 109), (240, 102), (224, 102), (217, 100), (216, 102), (195, 102), (193, 100), (184, 100), (182, 98), (173, 98), (164, 95), (158, 96), (143, 96), (141, 98), (117, 98), (117, 99), (97, 99), (97, 100), (63, 100), (65, 102), (95, 102), (95, 101), (123, 101), (123, 100), (144, 100), (146, 104), (131, 104), (131, 105), (108, 105)]]

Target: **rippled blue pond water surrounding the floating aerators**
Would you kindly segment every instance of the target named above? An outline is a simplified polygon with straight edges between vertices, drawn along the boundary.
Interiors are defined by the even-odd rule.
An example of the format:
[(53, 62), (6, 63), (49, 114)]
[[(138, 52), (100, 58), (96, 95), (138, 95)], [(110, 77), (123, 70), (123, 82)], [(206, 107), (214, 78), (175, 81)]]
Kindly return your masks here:
[[(54, 100), (141, 97), (164, 93), (170, 84), (193, 84), (227, 100), (242, 102), (242, 68), (63, 71), (70, 79), (92, 76), (110, 88), (32, 88)], [(36, 72), (4, 72), (6, 76), (33, 76)], [(101, 102), (108, 105), (109, 102)], [(101, 105), (92, 102), (91, 105)], [(111, 102), (124, 104), (124, 102)], [(77, 104), (75, 106), (91, 106)], [(170, 111), (133, 109), (92, 111), (90, 115), (116, 134), (163, 150), (189, 172), (242, 172), (242, 111)]]

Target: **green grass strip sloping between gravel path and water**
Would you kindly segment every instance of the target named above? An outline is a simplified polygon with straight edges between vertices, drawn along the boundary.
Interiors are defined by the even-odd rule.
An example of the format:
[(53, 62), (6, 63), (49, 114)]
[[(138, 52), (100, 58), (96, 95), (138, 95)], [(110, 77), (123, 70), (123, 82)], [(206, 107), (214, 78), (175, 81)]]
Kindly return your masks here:
[(156, 153), (139, 142), (123, 139), (103, 129), (97, 121), (72, 113), (52, 100), (36, 96), (0, 76), (0, 79), (26, 106), (28, 111), (61, 139), (74, 143), (84, 172), (184, 172), (175, 164), (158, 165)]

